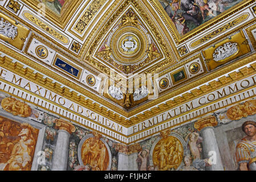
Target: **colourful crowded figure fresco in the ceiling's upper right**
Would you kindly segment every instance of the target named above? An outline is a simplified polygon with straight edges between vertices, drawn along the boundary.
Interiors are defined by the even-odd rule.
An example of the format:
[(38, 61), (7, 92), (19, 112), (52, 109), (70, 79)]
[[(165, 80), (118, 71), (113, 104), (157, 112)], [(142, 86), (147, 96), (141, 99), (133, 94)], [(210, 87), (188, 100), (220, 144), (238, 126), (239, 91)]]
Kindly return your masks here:
[(234, 8), (242, 0), (159, 0), (159, 2), (182, 36), (226, 10)]

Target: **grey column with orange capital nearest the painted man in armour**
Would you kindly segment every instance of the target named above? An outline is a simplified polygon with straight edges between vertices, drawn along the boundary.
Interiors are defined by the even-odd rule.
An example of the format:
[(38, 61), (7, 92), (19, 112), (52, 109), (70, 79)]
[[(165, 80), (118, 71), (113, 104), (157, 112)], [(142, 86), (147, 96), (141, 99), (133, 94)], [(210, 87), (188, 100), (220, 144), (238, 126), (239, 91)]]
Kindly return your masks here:
[(213, 159), (213, 162), (216, 163), (212, 164), (212, 166), (206, 167), (209, 171), (224, 171), (218, 143), (214, 134), (214, 126), (217, 125), (218, 122), (214, 116), (202, 118), (194, 123), (194, 127), (200, 131), (201, 137), (203, 138), (202, 144), (205, 158), (215, 158)]

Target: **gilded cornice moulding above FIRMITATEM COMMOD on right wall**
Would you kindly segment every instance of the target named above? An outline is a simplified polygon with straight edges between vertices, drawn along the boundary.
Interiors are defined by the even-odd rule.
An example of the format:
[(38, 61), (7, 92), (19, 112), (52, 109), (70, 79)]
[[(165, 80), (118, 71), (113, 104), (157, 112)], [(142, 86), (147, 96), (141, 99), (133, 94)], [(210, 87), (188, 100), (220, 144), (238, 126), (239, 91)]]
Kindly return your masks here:
[[(205, 76), (203, 80), (205, 80), (204, 82), (213, 80), (213, 78), (223, 75), (225, 69), (227, 69), (227, 70), (230, 69), (230, 71), (232, 71), (236, 67), (237, 68), (241, 67), (241, 63), (245, 63), (245, 61), (247, 63), (250, 63), (252, 60), (255, 60), (255, 59), (256, 59), (256, 54), (246, 57), (246, 59), (242, 59), (243, 61), (239, 60), (236, 63), (233, 63), (226, 68), (222, 68), (221, 71), (216, 71), (212, 75)], [(240, 64), (239, 64), (239, 62), (240, 62)], [(231, 68), (232, 65), (233, 65), (233, 68)], [(231, 73), (229, 73), (229, 76), (227, 76), (227, 77), (223, 76), (223, 77), (219, 78), (218, 81), (209, 82), (209, 85), (200, 86), (200, 89), (193, 89), (196, 87), (197, 84), (200, 85), (199, 83), (200, 83), (200, 81), (202, 81), (202, 78), (201, 78), (201, 79), (197, 80), (196, 82), (193, 82), (193, 84), (186, 85), (182, 89), (174, 90), (172, 93), (165, 94), (165, 96), (157, 98), (157, 100), (151, 101), (151, 103), (149, 103), (149, 104), (152, 104), (151, 105), (152, 107), (155, 106), (151, 110), (147, 110), (148, 107), (146, 107), (146, 105), (140, 106), (141, 111), (144, 111), (144, 110), (147, 110), (147, 111), (144, 111), (144, 114), (140, 114), (139, 117), (137, 117), (137, 116), (131, 117), (130, 119), (133, 122), (133, 124), (139, 123), (140, 121), (142, 121), (142, 119), (144, 119), (144, 120), (149, 119), (157, 114), (163, 113), (166, 110), (172, 109), (172, 108), (174, 108), (178, 105), (181, 105), (185, 102), (191, 101), (192, 98), (198, 98), (198, 97), (204, 96), (205, 94), (213, 92), (214, 90), (220, 89), (220, 88), (224, 87), (225, 85), (230, 84), (231, 82), (235, 82), (235, 81), (240, 80), (241, 78), (247, 77), (249, 75), (253, 75), (256, 73), (255, 65), (256, 64), (254, 63), (251, 65), (250, 68), (246, 67), (246, 68), (239, 69), (239, 72), (231, 72)], [(225, 72), (226, 72), (226, 70), (225, 70)], [(182, 94), (182, 93), (186, 92), (186, 90), (188, 89), (187, 86), (190, 86), (190, 89), (193, 89), (193, 90), (191, 90), (190, 93)], [(182, 95), (179, 97), (174, 97), (179, 94), (182, 94)], [(165, 100), (168, 100), (168, 98), (172, 98), (172, 97), (174, 97), (173, 100), (166, 101), (165, 104), (156, 106), (158, 103), (164, 102)], [(133, 114), (133, 110), (130, 111), (130, 113)]]

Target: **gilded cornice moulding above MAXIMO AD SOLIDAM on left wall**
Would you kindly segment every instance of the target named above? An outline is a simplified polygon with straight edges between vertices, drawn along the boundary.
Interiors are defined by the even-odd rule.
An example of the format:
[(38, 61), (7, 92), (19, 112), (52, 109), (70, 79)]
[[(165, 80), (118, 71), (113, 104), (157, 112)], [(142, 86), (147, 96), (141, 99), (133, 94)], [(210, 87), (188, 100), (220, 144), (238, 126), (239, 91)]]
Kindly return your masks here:
[[(0, 47), (2, 47), (2, 45), (0, 45)], [(33, 82), (35, 82), (38, 85), (44, 86), (45, 88), (51, 90), (52, 92), (60, 94), (60, 95), (62, 95), (64, 97), (66, 97), (66, 98), (70, 98), (74, 102), (79, 103), (80, 105), (83, 105), (83, 106), (87, 107), (88, 109), (95, 110), (96, 113), (101, 113), (101, 114), (105, 113), (103, 115), (106, 118), (116, 119), (116, 121), (119, 121), (119, 122), (124, 122), (125, 121), (124, 117), (122, 117), (121, 115), (119, 115), (119, 114), (113, 115), (112, 111), (107, 111), (107, 108), (104, 109), (104, 107), (100, 107), (99, 104), (94, 103), (95, 99), (93, 99), (93, 100), (90, 100), (90, 99), (85, 100), (85, 98), (83, 96), (78, 96), (77, 92), (74, 92), (74, 91), (70, 92), (70, 90), (67, 89), (66, 87), (61, 87), (61, 85), (57, 84), (56, 82), (52, 83), (53, 80), (51, 80), (50, 78), (43, 78), (43, 75), (40, 75), (40, 73), (33, 73), (34, 71), (32, 71), (30, 68), (23, 68), (24, 65), (19, 64), (18, 62), (12, 63), (11, 61), (12, 60), (9, 59), (8, 57), (2, 57), (2, 59), (1, 59), (2, 67), (8, 69), (9, 71), (11, 71), (13, 73), (17, 73), (18, 75), (20, 75), (20, 76), (22, 76), (24, 78), (27, 78), (28, 80), (33, 81)], [(23, 61), (24, 61), (24, 59), (23, 59)], [(26, 65), (30, 65), (30, 64), (26, 64)], [(32, 65), (35, 66), (35, 63), (32, 63)], [(36, 70), (40, 70), (41, 72), (45, 71), (45, 69), (42, 68), (42, 67), (37, 68)], [(46, 71), (45, 74), (48, 75), (49, 72)], [(56, 77), (57, 81), (60, 82), (59, 79), (61, 79), (62, 82), (65, 82), (64, 78), (58, 78), (57, 75), (55, 76), (55, 73), (53, 75), (51, 75), (50, 77), (51, 78), (55, 78)], [(67, 80), (67, 83), (68, 82), (70, 82), (70, 81)], [(70, 84), (71, 84), (71, 82), (70, 82)], [(76, 86), (75, 90), (77, 90), (77, 89), (78, 89), (78, 86)], [(91, 95), (92, 97), (99, 98), (96, 95), (93, 96), (92, 93), (86, 91), (83, 88), (81, 88), (80, 91), (81, 91), (80, 93), (83, 93), (84, 95), (86, 95), (88, 97)], [(85, 93), (85, 92), (87, 92), (87, 93)], [(102, 99), (101, 99), (101, 102), (103, 102), (104, 105), (107, 105), (107, 107), (111, 107), (111, 108), (115, 107), (115, 106), (111, 105), (109, 102), (102, 101)], [(123, 111), (123, 110), (121, 110), (121, 111)]]

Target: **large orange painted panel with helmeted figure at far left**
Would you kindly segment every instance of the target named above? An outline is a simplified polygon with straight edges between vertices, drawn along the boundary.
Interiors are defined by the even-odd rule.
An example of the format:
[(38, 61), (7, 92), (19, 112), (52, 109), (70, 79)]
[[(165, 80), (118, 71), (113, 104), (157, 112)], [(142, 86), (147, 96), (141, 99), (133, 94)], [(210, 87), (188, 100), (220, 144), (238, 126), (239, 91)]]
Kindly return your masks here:
[[(18, 135), (17, 131), (19, 131)], [(4, 155), (0, 155), (0, 171), (28, 171), (31, 169), (36, 144), (35, 137), (38, 134), (36, 132), (27, 123), (19, 126), (8, 120), (3, 121), (3, 128), (0, 132), (2, 140), (0, 154)]]

